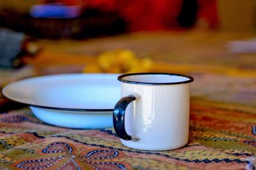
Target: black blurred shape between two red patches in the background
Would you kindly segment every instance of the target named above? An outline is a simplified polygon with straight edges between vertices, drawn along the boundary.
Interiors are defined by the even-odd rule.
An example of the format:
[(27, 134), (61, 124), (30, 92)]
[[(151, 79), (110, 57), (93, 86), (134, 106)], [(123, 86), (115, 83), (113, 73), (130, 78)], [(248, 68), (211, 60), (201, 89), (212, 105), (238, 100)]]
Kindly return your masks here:
[(178, 22), (180, 27), (193, 27), (196, 21), (198, 3), (196, 0), (184, 0)]

